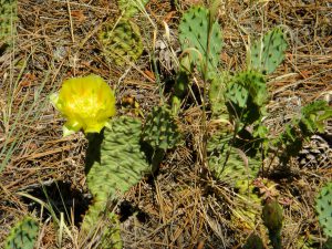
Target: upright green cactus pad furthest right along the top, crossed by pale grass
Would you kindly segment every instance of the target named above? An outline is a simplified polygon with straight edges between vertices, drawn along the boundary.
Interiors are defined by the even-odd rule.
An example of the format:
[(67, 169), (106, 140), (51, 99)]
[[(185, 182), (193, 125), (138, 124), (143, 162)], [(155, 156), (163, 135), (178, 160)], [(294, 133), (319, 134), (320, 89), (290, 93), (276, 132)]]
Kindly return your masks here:
[(269, 31), (260, 41), (252, 44), (249, 51), (250, 69), (263, 74), (272, 73), (284, 59), (287, 41), (280, 28)]

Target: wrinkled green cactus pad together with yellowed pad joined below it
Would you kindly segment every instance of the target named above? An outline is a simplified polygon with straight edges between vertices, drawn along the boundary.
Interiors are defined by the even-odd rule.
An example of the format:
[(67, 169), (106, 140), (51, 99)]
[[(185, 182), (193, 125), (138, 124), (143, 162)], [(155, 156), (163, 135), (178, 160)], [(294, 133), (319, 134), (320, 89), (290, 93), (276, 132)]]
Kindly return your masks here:
[(232, 209), (232, 222), (241, 229), (255, 228), (259, 216), (260, 199), (253, 193), (252, 180), (256, 178), (260, 163), (249, 158), (238, 148), (229, 146), (231, 134), (214, 136), (208, 141), (208, 166), (214, 175), (238, 190), (246, 206)]

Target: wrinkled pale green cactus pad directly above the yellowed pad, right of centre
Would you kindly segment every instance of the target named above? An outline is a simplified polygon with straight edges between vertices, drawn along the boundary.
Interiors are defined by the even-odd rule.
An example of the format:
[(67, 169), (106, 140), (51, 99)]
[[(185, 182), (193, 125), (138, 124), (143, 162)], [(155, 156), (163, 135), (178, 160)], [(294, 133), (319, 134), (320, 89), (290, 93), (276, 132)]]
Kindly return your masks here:
[(232, 187), (242, 188), (243, 184), (248, 187), (248, 183), (259, 172), (260, 162), (247, 157), (240, 149), (230, 147), (230, 138), (231, 135), (215, 135), (208, 141), (208, 166), (217, 178), (231, 184)]

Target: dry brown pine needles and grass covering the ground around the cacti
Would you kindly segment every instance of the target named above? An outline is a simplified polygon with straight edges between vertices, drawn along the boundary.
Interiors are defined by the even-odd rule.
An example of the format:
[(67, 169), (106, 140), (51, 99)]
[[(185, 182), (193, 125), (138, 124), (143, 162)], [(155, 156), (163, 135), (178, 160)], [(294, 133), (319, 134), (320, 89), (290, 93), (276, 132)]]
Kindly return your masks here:
[[(53, 186), (48, 194), (53, 191), (58, 200), (62, 195), (65, 201), (79, 201), (79, 217), (82, 212), (77, 207), (89, 201), (84, 176), (86, 141), (80, 134), (62, 138), (63, 120), (48, 101), (63, 80), (89, 73), (103, 76), (116, 89), (120, 113), (133, 113), (122, 108), (124, 96), (135, 97), (144, 114), (160, 102), (160, 86), (149, 61), (153, 33), (157, 32), (157, 40), (163, 39), (163, 20), (166, 21), (177, 51), (180, 11), (168, 1), (152, 0), (146, 8), (151, 20), (144, 14), (137, 18), (144, 27), (146, 50), (135, 65), (121, 68), (105, 62), (95, 37), (105, 20), (116, 17), (114, 2), (19, 1), (15, 46), (0, 58), (0, 241), (28, 212), (34, 209), (42, 216), (20, 191), (38, 193), (37, 198), (48, 203), (40, 186)], [(178, 8), (197, 2), (200, 1), (179, 1)], [(331, 8), (324, 0), (225, 1), (220, 7), (225, 40), (221, 61), (230, 71), (245, 66), (249, 35), (257, 38), (276, 25), (288, 30), (286, 61), (269, 80), (271, 115), (266, 122), (273, 134), (280, 133), (304, 103), (324, 97), (331, 102)], [(162, 72), (167, 76), (172, 70), (162, 68)], [(186, 146), (169, 152), (158, 175), (142, 180), (118, 203), (122, 207), (126, 201), (129, 208), (124, 209), (136, 214), (122, 222), (125, 248), (239, 248), (248, 236), (241, 224), (230, 220), (231, 209), (246, 201), (235, 200), (236, 194), (215, 181), (199, 163), (200, 118), (201, 112), (194, 104), (183, 112)], [(326, 132), (331, 134), (331, 124)], [(284, 203), (284, 248), (299, 248), (298, 240), (309, 237), (318, 247), (321, 245), (323, 237), (313, 201), (319, 187), (332, 178), (331, 165), (329, 160), (322, 168), (299, 168), (293, 162), (292, 176), (276, 181)], [(65, 186), (54, 190), (54, 181)], [(61, 224), (64, 221), (58, 222)], [(77, 224), (66, 224), (60, 246), (59, 227), (53, 226), (54, 220), (43, 219), (38, 248), (89, 248), (80, 246), (83, 241), (74, 226)]]

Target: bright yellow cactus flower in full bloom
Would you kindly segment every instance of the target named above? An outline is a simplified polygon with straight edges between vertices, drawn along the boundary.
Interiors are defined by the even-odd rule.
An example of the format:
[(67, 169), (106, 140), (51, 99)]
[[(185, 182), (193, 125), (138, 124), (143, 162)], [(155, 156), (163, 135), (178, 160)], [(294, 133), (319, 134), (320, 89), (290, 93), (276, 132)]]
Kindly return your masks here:
[(95, 74), (64, 81), (60, 92), (51, 95), (51, 102), (68, 120), (64, 136), (80, 129), (100, 133), (116, 113), (114, 92)]

